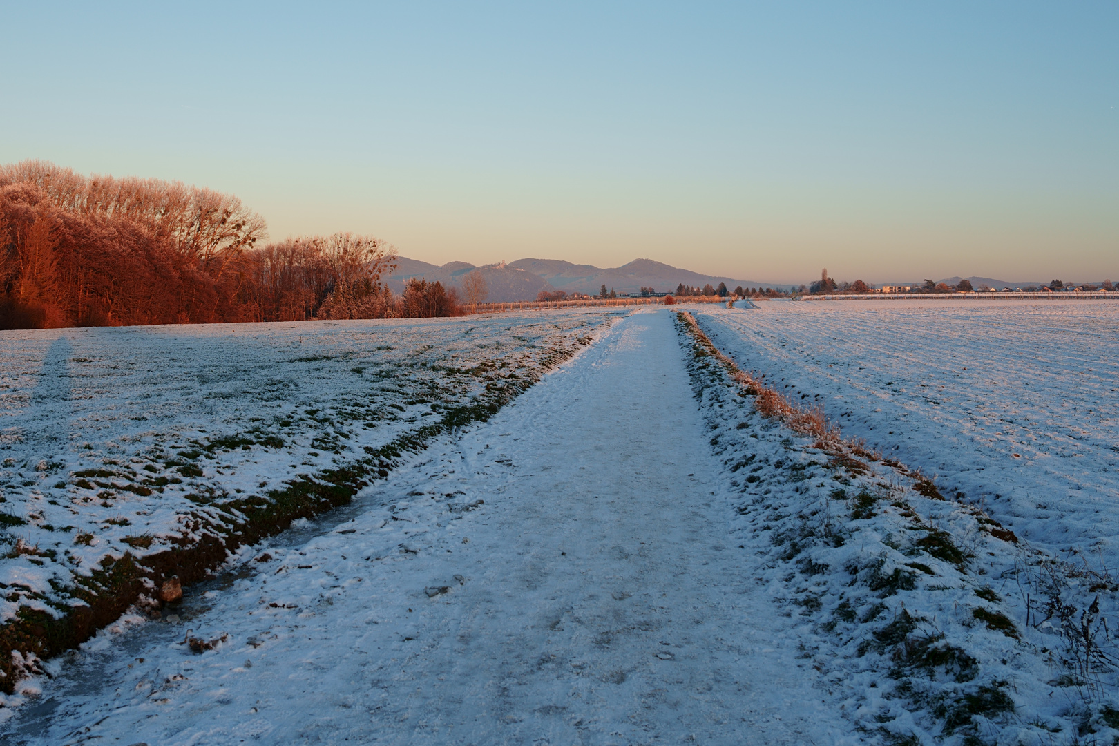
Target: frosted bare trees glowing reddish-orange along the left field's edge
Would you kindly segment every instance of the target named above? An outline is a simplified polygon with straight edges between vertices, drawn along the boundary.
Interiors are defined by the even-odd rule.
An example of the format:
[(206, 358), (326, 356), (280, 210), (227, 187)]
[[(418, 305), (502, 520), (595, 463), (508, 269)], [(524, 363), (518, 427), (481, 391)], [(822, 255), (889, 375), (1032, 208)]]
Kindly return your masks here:
[[(232, 195), (0, 166), (0, 329), (453, 315), (453, 287), (382, 282), (395, 249), (338, 233), (265, 243)], [(479, 277), (480, 280), (480, 277)]]

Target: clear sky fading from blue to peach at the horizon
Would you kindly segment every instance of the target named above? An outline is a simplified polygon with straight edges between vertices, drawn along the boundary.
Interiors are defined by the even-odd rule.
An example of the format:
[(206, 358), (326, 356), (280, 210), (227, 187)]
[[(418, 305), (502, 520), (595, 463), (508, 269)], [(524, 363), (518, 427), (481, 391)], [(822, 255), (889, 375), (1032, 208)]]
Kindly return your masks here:
[(7, 2), (0, 28), (0, 163), (232, 192), (274, 239), (1119, 278), (1116, 2)]

